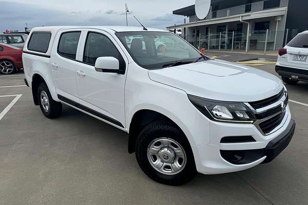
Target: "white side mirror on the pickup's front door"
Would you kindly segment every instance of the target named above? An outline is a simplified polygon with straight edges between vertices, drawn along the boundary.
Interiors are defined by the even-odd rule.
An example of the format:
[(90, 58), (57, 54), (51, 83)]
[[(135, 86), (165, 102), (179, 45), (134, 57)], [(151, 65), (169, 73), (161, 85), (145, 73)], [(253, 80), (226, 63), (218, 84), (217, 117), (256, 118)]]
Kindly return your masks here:
[(119, 60), (115, 57), (98, 57), (95, 70), (104, 73), (121, 73)]

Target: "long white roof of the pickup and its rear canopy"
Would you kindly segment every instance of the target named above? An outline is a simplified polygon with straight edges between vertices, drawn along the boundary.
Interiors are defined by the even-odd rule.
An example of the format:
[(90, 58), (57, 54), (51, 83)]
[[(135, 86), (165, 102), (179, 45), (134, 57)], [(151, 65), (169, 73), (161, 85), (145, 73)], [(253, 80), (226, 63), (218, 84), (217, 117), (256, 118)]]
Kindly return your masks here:
[[(57, 32), (62, 29), (73, 29), (73, 28), (90, 28), (90, 29), (101, 29), (101, 30), (113, 30), (115, 32), (128, 32), (128, 31), (145, 31), (143, 27), (133, 27), (133, 26), (44, 26), (35, 27), (31, 31), (51, 31)], [(148, 31), (159, 31), (168, 32), (166, 30), (147, 28)]]

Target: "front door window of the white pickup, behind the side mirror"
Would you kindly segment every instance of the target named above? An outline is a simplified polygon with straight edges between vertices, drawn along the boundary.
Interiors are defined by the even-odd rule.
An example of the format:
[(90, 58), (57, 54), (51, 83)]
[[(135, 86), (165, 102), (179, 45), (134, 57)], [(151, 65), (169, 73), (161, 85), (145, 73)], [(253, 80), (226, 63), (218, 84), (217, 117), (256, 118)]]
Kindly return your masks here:
[(107, 36), (101, 33), (89, 32), (83, 62), (94, 66), (98, 57), (115, 57), (119, 60), (120, 68), (125, 66), (122, 55)]

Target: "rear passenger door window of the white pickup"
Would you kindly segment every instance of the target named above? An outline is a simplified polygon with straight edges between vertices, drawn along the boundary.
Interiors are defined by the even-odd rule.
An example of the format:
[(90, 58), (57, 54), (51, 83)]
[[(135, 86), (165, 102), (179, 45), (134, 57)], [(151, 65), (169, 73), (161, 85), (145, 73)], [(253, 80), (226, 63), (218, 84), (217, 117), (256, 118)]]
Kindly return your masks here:
[(81, 31), (62, 33), (57, 52), (63, 57), (76, 59), (80, 34)]

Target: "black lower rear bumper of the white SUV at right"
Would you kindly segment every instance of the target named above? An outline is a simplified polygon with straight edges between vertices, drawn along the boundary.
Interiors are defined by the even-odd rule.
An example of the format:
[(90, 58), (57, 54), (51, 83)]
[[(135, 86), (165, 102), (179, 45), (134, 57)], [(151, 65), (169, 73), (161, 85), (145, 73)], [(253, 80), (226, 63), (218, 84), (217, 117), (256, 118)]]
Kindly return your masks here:
[(284, 66), (276, 66), (275, 71), (280, 76), (308, 82), (308, 70), (284, 67)]

